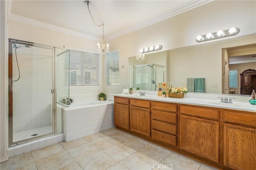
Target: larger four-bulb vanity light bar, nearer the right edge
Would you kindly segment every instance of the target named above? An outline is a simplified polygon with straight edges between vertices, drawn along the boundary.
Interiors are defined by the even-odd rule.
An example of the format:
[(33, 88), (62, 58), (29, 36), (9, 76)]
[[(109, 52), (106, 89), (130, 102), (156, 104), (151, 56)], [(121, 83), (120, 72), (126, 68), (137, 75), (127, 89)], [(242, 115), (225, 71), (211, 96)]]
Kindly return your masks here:
[(200, 43), (200, 42), (203, 42), (203, 41), (209, 41), (209, 40), (229, 37), (229, 36), (232, 36), (232, 35), (236, 35), (239, 32), (240, 32), (239, 28), (232, 27), (232, 28), (226, 29), (224, 31), (219, 30), (218, 32), (215, 32), (215, 33), (208, 33), (206, 35), (198, 35), (196, 37), (196, 41), (198, 43)]

